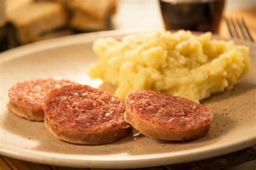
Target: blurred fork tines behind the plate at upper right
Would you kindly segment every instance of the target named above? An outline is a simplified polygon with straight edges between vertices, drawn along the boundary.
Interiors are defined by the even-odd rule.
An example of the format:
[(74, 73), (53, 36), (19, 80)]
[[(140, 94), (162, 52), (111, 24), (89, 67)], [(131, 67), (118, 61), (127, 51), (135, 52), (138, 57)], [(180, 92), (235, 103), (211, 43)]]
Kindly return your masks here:
[(246, 41), (254, 42), (252, 34), (245, 23), (244, 18), (224, 18), (227, 23), (228, 31), (232, 38), (244, 39)]

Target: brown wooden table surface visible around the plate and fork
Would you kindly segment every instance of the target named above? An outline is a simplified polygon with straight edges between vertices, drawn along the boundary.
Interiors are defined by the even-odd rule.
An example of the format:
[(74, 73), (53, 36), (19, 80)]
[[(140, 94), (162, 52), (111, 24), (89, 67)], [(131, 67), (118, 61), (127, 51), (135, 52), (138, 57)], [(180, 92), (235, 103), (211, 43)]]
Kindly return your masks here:
[[(256, 39), (256, 9), (245, 9), (240, 11), (234, 11), (231, 13), (225, 13), (227, 17), (243, 17), (246, 24), (248, 25), (252, 36)], [(219, 34), (222, 37), (230, 38), (226, 23), (224, 20), (221, 21)], [(246, 148), (238, 152), (221, 155), (220, 157), (199, 160), (194, 162), (187, 162), (184, 164), (168, 165), (161, 167), (145, 168), (145, 169), (221, 169), (225, 167), (231, 167), (242, 164), (244, 162), (256, 159), (256, 145)], [(79, 168), (68, 168), (68, 167), (56, 167), (49, 165), (34, 164), (31, 162), (21, 161), (8, 157), (0, 157), (0, 169), (59, 169), (59, 170), (71, 170)]]

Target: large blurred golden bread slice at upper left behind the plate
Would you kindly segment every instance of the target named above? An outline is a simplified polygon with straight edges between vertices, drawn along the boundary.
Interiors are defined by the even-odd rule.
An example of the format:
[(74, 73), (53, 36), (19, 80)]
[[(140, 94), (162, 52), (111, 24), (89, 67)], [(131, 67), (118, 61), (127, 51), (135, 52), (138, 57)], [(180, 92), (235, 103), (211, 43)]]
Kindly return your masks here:
[(21, 5), (9, 3), (8, 8), (6, 17), (16, 27), (17, 39), (21, 44), (32, 42), (45, 32), (68, 23), (63, 5), (56, 2), (27, 2)]

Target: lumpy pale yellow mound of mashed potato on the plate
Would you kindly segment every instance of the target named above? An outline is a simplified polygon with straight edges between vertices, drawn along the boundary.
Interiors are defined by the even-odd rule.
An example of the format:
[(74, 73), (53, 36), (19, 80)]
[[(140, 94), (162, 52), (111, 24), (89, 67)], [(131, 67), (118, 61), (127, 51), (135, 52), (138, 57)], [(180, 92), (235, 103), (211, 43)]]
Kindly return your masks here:
[(211, 33), (154, 32), (97, 39), (100, 60), (89, 75), (117, 86), (116, 96), (152, 89), (195, 102), (232, 88), (250, 70), (248, 48), (233, 41), (211, 40)]

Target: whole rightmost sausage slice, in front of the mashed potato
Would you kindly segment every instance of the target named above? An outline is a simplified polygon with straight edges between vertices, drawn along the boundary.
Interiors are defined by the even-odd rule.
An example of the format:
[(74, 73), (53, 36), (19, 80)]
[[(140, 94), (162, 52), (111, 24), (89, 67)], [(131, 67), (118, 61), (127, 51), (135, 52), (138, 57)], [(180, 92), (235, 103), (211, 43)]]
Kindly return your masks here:
[(126, 96), (125, 121), (145, 136), (164, 140), (190, 140), (210, 129), (213, 113), (201, 104), (152, 90)]

